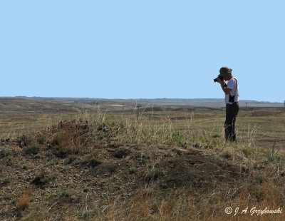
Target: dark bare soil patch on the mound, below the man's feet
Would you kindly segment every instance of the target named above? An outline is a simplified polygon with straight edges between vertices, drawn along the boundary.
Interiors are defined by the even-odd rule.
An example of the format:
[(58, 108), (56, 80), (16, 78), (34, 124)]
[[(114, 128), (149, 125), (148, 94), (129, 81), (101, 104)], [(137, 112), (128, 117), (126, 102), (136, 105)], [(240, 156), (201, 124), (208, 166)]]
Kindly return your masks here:
[(163, 171), (159, 180), (162, 188), (189, 186), (212, 188), (217, 185), (229, 187), (244, 175), (241, 173), (242, 168), (236, 165), (230, 165), (191, 149), (180, 150), (176, 156), (163, 159), (157, 168)]

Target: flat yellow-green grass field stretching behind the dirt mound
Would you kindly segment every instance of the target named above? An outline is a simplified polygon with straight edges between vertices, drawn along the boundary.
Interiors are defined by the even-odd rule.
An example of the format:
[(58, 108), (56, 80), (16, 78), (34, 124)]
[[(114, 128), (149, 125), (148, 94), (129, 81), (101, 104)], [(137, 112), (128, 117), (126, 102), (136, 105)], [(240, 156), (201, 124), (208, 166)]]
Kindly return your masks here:
[[(0, 115), (0, 129), (2, 138), (16, 138), (23, 133), (46, 129), (61, 120), (84, 118), (86, 120), (102, 116), (105, 120), (128, 120), (136, 123), (138, 115), (135, 110), (125, 112), (88, 112), (82, 113), (4, 113)], [(197, 113), (193, 111), (147, 111), (140, 110), (139, 123), (141, 125), (162, 126), (181, 133), (200, 134), (207, 137), (219, 135), (224, 138), (224, 111), (209, 111)], [(283, 108), (267, 111), (257, 109), (247, 111), (242, 108), (236, 123), (239, 143), (258, 145), (271, 148), (275, 142), (276, 148), (284, 148), (285, 111)]]

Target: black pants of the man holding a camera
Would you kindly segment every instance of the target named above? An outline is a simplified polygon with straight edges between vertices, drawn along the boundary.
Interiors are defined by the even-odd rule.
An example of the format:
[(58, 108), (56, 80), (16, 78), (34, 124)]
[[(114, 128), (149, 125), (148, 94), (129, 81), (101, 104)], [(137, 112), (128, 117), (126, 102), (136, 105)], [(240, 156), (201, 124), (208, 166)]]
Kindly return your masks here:
[(227, 104), (226, 121), (224, 122), (224, 131), (226, 133), (226, 141), (237, 142), (235, 124), (239, 113), (239, 103)]

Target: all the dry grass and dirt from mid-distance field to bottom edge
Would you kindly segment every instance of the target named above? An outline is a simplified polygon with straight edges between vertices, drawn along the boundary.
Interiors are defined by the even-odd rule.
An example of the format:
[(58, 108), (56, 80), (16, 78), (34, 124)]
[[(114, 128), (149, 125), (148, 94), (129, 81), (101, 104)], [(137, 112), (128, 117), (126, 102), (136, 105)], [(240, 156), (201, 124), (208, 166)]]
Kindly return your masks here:
[(242, 111), (238, 144), (219, 110), (17, 117), (0, 145), (1, 220), (285, 220), (249, 212), (285, 203), (282, 111)]

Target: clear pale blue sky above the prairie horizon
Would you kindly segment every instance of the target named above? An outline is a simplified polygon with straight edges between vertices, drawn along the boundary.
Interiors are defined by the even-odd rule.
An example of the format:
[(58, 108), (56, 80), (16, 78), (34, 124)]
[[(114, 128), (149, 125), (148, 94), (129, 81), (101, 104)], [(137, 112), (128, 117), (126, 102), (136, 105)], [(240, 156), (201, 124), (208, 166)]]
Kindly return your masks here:
[(285, 1), (0, 0), (0, 96), (283, 102)]

